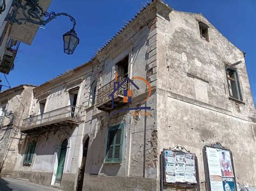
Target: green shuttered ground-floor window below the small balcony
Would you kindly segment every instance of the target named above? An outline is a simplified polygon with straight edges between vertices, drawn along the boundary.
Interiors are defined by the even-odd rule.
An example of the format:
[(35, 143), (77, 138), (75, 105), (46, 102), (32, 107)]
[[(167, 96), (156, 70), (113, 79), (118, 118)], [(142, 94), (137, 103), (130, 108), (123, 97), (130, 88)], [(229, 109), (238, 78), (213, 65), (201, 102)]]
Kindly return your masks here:
[[(124, 142), (124, 123), (111, 126), (109, 130), (107, 131), (107, 144), (106, 144), (106, 155), (105, 155), (105, 163), (120, 163), (122, 162), (122, 155), (123, 155), (123, 142)], [(120, 140), (119, 143), (116, 143), (118, 132), (120, 132)], [(110, 143), (110, 136), (111, 133), (113, 137), (112, 143)], [(116, 147), (119, 146), (119, 157), (114, 158), (114, 155), (116, 154)], [(112, 157), (109, 157), (110, 148), (112, 147)]]

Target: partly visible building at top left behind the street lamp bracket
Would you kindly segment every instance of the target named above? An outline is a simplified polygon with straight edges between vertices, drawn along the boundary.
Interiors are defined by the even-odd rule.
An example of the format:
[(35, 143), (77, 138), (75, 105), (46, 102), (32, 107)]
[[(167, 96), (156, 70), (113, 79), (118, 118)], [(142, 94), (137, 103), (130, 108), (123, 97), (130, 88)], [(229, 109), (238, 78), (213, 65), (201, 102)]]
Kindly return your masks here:
[[(10, 24), (6, 18), (12, 15), (17, 3), (24, 5), (26, 1), (4, 0), (0, 2), (0, 72), (9, 74), (14, 68), (14, 61), (18, 52), (19, 44), (25, 43), (31, 45), (39, 25), (32, 23)], [(51, 0), (38, 1), (44, 11), (47, 11)], [(22, 9), (17, 10), (18, 18), (25, 18)]]

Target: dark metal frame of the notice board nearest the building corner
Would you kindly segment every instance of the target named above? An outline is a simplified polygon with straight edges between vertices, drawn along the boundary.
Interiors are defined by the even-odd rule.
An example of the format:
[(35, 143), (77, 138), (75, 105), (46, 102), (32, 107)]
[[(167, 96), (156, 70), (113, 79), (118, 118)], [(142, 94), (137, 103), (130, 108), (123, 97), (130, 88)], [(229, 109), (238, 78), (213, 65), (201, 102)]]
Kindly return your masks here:
[[(164, 158), (164, 153), (165, 151), (172, 151), (172, 152), (176, 152), (176, 153), (190, 153), (190, 154), (194, 154), (194, 165), (196, 168), (196, 180), (197, 183), (186, 183), (186, 182), (177, 182), (177, 183), (169, 183), (166, 182), (166, 173), (165, 173), (165, 158)], [(163, 190), (164, 185), (166, 186), (173, 186), (174, 188), (185, 188), (185, 189), (193, 189), (196, 188), (197, 190), (200, 190), (200, 183), (199, 183), (199, 170), (198, 170), (198, 159), (197, 159), (197, 155), (195, 153), (191, 153), (190, 151), (184, 152), (184, 151), (179, 151), (179, 150), (173, 150), (172, 148), (166, 149), (164, 148), (163, 151), (161, 151), (160, 154), (160, 190)]]

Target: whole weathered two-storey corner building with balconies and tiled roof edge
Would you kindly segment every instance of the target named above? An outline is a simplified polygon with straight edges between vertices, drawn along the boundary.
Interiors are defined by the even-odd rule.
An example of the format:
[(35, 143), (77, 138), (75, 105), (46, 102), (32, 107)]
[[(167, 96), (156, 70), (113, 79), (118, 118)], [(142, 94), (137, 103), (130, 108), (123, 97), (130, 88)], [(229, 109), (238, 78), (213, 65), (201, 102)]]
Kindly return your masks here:
[(160, 153), (177, 146), (197, 156), (189, 189), (209, 190), (203, 148), (217, 142), (232, 151), (238, 190), (255, 187), (244, 56), (203, 15), (152, 1), (89, 62), (33, 89), (10, 175), (65, 190), (179, 190), (160, 181)]

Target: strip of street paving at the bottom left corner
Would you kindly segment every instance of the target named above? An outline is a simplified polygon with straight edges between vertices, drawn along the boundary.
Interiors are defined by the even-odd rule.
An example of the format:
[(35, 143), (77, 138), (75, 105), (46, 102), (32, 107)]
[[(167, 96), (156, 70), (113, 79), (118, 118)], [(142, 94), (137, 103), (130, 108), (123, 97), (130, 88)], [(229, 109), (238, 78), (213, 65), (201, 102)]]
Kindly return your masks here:
[(28, 181), (0, 177), (0, 191), (57, 191), (59, 189), (37, 185)]

